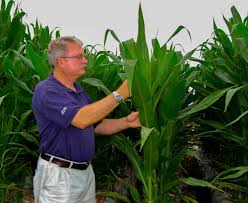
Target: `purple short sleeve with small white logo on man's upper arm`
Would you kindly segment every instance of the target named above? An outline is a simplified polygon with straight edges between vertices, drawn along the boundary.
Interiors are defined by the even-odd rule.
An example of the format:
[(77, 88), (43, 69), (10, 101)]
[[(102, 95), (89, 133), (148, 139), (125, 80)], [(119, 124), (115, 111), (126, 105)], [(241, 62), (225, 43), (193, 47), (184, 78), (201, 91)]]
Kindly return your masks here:
[(72, 95), (57, 90), (47, 90), (40, 98), (40, 111), (61, 127), (68, 127), (82, 107), (73, 101)]

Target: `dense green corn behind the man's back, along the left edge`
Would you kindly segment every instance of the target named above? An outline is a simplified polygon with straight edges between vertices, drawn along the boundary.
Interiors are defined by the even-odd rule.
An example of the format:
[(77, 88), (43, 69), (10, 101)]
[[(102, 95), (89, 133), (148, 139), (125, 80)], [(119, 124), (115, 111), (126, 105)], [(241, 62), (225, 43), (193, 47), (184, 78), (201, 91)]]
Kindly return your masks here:
[[(39, 25), (34, 27), (34, 39), (22, 22), (25, 13), (16, 7), (11, 16), (13, 6), (14, 1), (7, 4), (1, 1), (0, 202), (19, 202), (24, 178), (33, 174), (38, 158), (38, 131), (31, 97), (35, 84), (50, 71), (44, 57), (47, 43), (43, 40), (49, 41), (52, 33), (46, 38), (48, 29)], [(44, 45), (36, 52), (33, 46), (42, 43)]]

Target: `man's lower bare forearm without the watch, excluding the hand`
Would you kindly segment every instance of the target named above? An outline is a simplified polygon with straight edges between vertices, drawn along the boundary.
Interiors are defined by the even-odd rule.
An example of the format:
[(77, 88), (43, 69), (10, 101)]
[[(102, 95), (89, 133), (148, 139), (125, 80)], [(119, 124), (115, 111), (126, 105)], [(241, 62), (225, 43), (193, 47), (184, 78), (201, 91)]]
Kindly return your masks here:
[(104, 119), (95, 128), (95, 133), (99, 135), (112, 135), (129, 128), (126, 117), (119, 119)]

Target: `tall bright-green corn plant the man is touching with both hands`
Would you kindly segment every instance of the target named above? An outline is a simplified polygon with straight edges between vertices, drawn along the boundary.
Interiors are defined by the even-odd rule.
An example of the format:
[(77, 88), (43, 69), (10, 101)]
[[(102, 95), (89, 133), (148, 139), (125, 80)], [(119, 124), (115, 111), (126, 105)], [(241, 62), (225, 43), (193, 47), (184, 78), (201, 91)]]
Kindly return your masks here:
[[(179, 26), (169, 40), (182, 29), (184, 27)], [(142, 123), (139, 149), (137, 144), (126, 137), (113, 138), (113, 143), (128, 156), (142, 184), (143, 199), (143, 195), (140, 195), (134, 186), (129, 185), (133, 200), (149, 203), (171, 202), (173, 196), (177, 196), (179, 199), (194, 202), (192, 198), (180, 194), (177, 187), (179, 184), (215, 188), (203, 180), (180, 178), (176, 175), (187, 151), (187, 147), (179, 142), (180, 137), (183, 137), (182, 121), (188, 115), (213, 103), (213, 95), (191, 108), (182, 102), (187, 100), (187, 89), (196, 75), (194, 69), (187, 70), (188, 65), (185, 63), (194, 50), (183, 57), (173, 45), (168, 47), (169, 40), (160, 46), (158, 40), (154, 39), (150, 57), (141, 6), (137, 41), (130, 39), (121, 42), (112, 30), (107, 30), (107, 33), (111, 33), (120, 43), (122, 60), (115, 55), (109, 56), (116, 64), (124, 65), (132, 102), (140, 113)]]

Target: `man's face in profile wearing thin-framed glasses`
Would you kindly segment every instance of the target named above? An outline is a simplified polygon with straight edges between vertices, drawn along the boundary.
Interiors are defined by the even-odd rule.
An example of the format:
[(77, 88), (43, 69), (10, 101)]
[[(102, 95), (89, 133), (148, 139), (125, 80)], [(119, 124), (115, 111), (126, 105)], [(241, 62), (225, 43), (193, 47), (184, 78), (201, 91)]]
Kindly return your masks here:
[(67, 53), (59, 58), (60, 68), (66, 75), (77, 79), (85, 73), (88, 61), (81, 46), (74, 43), (68, 45)]

